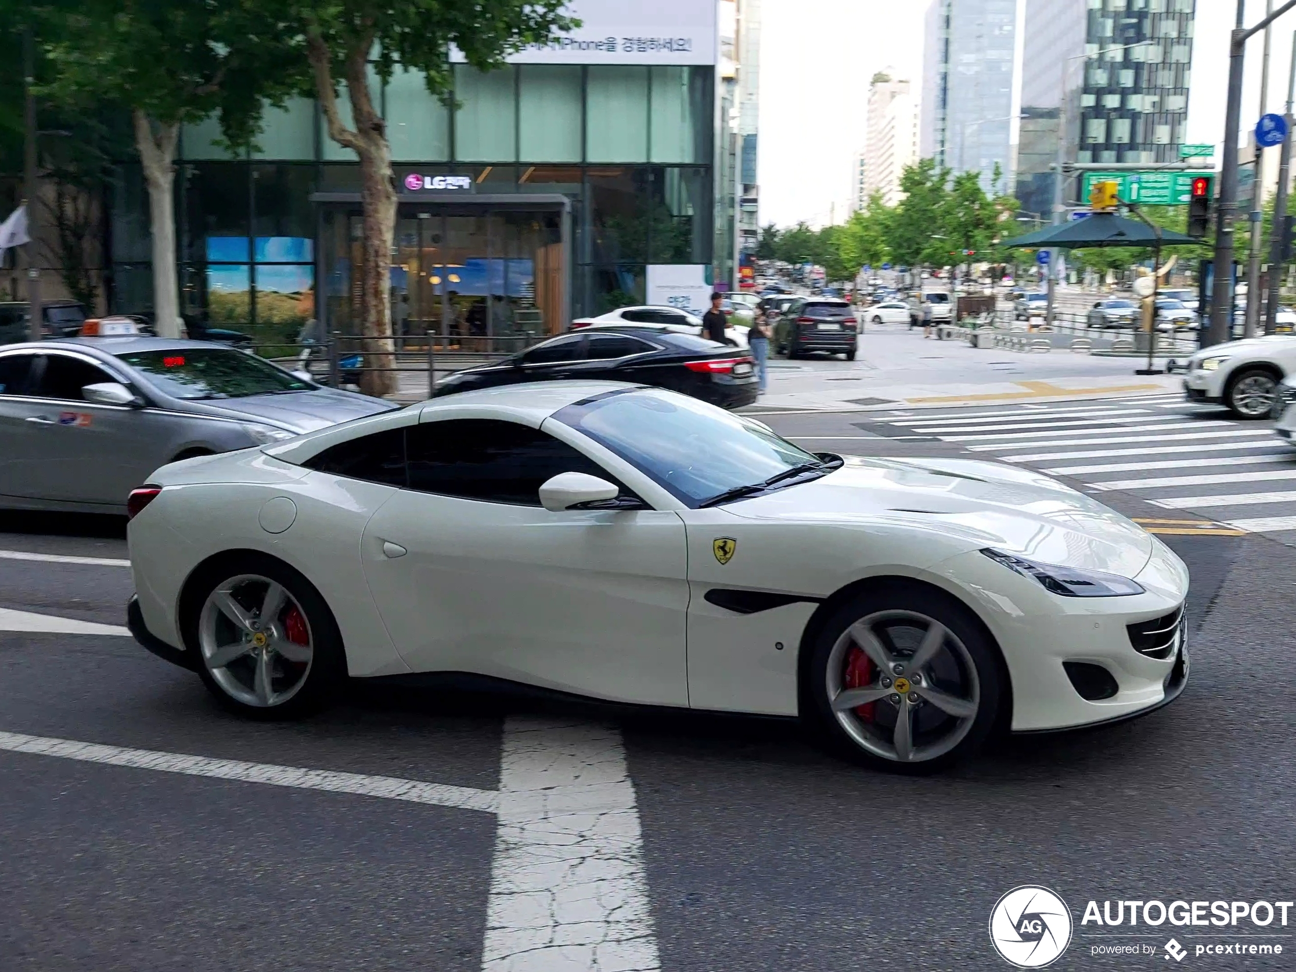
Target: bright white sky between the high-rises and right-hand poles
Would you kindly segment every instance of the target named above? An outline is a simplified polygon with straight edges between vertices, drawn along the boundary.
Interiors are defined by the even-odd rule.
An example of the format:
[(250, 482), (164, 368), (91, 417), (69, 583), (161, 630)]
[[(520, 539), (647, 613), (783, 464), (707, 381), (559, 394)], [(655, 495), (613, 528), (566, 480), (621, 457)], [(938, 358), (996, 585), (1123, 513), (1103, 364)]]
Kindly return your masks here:
[[(1247, 0), (1245, 23), (1264, 17), (1265, 3)], [(927, 8), (928, 0), (762, 0), (762, 223), (823, 226), (845, 216), (851, 156), (864, 141), (868, 80), (894, 69), (920, 91)], [(1214, 144), (1217, 161), (1235, 12), (1235, 0), (1198, 0), (1187, 140)], [(1296, 10), (1274, 22), (1270, 111), (1283, 109), (1293, 31)], [(1243, 132), (1260, 117), (1261, 52), (1257, 35), (1247, 45)]]

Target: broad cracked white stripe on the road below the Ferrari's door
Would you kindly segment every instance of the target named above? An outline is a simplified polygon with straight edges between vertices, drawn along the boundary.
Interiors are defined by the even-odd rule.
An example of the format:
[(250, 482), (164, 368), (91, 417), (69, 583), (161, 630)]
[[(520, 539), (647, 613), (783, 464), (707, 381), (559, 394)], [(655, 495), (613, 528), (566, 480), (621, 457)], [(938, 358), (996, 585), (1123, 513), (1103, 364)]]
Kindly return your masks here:
[(621, 734), (511, 717), (483, 972), (661, 967)]

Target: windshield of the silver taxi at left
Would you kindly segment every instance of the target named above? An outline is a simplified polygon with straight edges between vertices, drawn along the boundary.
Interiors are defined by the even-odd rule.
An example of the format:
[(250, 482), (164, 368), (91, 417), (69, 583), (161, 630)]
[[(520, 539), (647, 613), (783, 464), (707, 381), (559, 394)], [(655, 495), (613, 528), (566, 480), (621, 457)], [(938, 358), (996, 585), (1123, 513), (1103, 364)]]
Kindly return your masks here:
[(122, 362), (143, 372), (171, 398), (248, 398), (249, 395), (310, 391), (315, 388), (260, 358), (226, 347), (176, 347), (126, 351)]

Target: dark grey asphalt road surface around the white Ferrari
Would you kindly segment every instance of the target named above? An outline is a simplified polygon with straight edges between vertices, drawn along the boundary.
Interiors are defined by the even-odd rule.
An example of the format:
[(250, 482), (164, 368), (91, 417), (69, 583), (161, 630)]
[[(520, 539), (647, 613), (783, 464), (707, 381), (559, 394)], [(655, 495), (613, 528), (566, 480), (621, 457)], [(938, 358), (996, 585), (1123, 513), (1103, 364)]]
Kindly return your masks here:
[[(894, 420), (914, 415), (763, 417), (789, 435), (862, 437), (816, 448), (986, 457), (942, 435), (915, 441), (912, 426), (894, 434)], [(1091, 478), (1074, 482), (1093, 489)], [(1138, 490), (1103, 499), (1165, 515)], [(1142, 938), (1080, 924), (1090, 899), (1296, 898), (1296, 548), (1264, 533), (1163, 539), (1194, 575), (1192, 677), (1179, 701), (1118, 726), (1008, 739), (920, 779), (844, 763), (787, 721), (465, 689), (360, 687), (307, 722), (250, 723), (130, 638), (0, 631), (0, 735), (115, 748), (13, 752), (5, 737), (0, 969), (994, 969), (1008, 966), (988, 919), (1021, 884), (1058, 892), (1077, 923), (1052, 968), (1164, 969), (1172, 934), (1190, 950), (1185, 967), (1296, 967), (1292, 931), (1277, 924), (1144, 925)], [(118, 522), (26, 516), (0, 518), (0, 551), (126, 556)], [(121, 625), (130, 592), (130, 570), (110, 562), (0, 555), (0, 614)], [(123, 765), (150, 750), (504, 800), (511, 740), (533, 724), (619, 737), (599, 745), (623, 753), (639, 828), (627, 859), (642, 880), (600, 872), (588, 901), (644, 898), (643, 914), (621, 916), (639, 929), (634, 947), (616, 920), (592, 933), (562, 925), (616, 947), (546, 953), (542, 964), (539, 953), (500, 958), (483, 945), (499, 941), (500, 862), (516, 826), (504, 804)], [(1192, 954), (1239, 941), (1235, 932), (1284, 936), (1242, 941), (1288, 955)], [(1091, 954), (1111, 942), (1156, 954)]]

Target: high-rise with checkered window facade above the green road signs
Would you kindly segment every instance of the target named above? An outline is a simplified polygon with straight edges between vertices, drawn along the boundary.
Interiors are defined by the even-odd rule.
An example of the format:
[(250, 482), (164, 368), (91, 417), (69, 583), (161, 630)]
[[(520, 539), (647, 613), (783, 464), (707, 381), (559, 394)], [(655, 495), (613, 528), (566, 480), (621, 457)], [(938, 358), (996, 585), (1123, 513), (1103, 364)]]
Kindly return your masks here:
[[(1026, 0), (1016, 161), (1024, 210), (1052, 218), (1063, 114), (1064, 161), (1178, 158), (1194, 13), (1194, 0)], [(1064, 203), (1081, 202), (1074, 187), (1064, 187)]]

